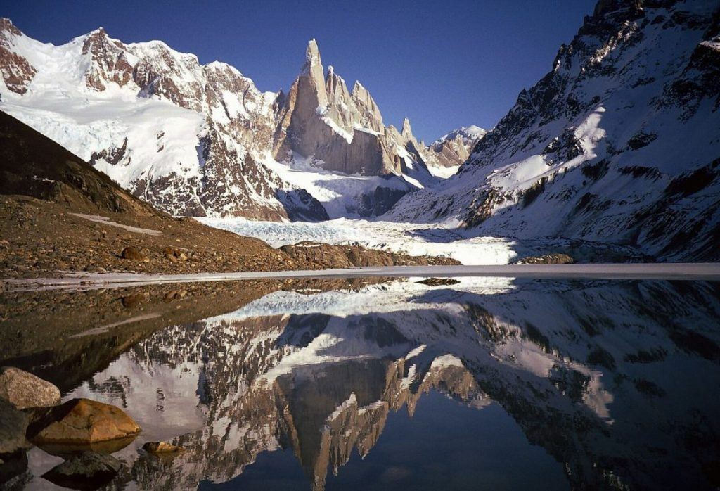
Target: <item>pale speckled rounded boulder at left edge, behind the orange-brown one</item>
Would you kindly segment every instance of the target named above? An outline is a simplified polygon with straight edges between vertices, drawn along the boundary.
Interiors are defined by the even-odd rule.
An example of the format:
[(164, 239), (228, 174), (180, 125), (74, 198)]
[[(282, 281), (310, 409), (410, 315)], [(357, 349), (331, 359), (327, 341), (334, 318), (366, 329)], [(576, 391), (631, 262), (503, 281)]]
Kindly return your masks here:
[(60, 389), (27, 371), (4, 366), (0, 368), (0, 397), (17, 409), (60, 404)]

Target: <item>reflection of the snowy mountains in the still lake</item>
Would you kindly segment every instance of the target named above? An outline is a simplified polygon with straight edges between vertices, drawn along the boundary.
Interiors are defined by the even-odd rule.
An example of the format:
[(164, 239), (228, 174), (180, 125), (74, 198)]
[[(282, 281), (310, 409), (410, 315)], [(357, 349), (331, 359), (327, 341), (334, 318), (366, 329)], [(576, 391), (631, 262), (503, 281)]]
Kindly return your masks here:
[(130, 463), (121, 481), (139, 487), (225, 482), (262, 452), (288, 449), (323, 489), (328, 472), (382, 442), (392, 413), (412, 416), (438, 391), (502, 407), (571, 487), (703, 489), (703, 469), (720, 457), (718, 312), (716, 287), (702, 282), (274, 292), (192, 323), (140, 323), (140, 338), (100, 336), (94, 351), (112, 356), (78, 365), (89, 371), (65, 397), (122, 407), (143, 428), (138, 448), (184, 447), (171, 460), (120, 451)]

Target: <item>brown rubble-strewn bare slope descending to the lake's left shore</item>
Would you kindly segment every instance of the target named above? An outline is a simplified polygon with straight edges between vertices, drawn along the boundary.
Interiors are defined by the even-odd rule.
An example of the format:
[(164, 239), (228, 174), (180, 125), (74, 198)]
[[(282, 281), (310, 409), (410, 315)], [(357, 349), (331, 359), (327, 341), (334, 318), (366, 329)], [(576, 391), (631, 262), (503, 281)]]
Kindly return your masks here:
[(4, 112), (0, 161), (3, 278), (58, 271), (177, 274), (456, 263), (358, 245), (275, 249), (256, 238), (171, 217)]

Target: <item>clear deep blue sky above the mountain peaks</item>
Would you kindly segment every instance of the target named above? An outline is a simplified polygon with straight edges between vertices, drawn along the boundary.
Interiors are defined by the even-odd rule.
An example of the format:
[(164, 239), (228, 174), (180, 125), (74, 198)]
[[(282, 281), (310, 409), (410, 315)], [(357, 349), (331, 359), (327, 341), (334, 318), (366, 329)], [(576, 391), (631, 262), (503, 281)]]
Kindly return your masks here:
[(102, 26), (124, 42), (159, 39), (221, 60), (259, 89), (289, 87), (307, 40), (325, 68), (369, 89), (385, 124), (410, 117), (418, 138), (490, 128), (552, 66), (596, 0), (6, 1), (30, 37), (60, 44)]

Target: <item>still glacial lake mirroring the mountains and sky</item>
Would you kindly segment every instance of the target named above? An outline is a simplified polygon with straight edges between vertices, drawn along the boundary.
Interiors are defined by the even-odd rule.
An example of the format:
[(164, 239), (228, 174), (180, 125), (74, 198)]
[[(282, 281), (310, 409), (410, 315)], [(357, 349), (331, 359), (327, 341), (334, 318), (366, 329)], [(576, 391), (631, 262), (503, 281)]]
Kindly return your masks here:
[(417, 281), (0, 292), (0, 366), (140, 425), (112, 489), (720, 486), (720, 283)]

